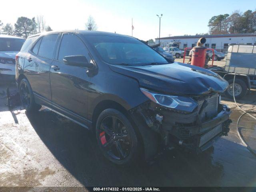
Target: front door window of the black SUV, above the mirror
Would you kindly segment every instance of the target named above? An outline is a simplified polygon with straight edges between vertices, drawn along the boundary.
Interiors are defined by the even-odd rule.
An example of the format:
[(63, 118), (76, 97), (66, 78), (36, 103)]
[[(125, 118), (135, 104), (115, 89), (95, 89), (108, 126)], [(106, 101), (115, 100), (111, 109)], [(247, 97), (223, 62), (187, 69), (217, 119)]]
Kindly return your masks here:
[(60, 43), (58, 60), (63, 61), (65, 56), (70, 55), (83, 55), (90, 62), (89, 52), (82, 40), (74, 34), (64, 34)]

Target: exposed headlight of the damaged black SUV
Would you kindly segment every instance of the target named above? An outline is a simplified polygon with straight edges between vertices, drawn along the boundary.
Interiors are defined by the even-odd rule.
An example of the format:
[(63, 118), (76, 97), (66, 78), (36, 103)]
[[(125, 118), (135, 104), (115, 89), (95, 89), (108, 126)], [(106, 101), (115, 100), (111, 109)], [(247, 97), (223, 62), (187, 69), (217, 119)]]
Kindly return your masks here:
[(167, 108), (192, 112), (198, 106), (197, 102), (190, 97), (164, 95), (146, 90), (144, 88), (140, 88), (140, 90), (152, 102)]

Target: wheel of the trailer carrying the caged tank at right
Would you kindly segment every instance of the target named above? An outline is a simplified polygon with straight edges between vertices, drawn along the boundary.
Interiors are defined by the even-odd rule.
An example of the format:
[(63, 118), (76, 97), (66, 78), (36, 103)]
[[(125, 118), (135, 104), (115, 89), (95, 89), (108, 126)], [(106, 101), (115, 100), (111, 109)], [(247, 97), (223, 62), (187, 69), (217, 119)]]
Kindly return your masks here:
[[(228, 89), (225, 91), (225, 95), (228, 98), (231, 98), (231, 99), (234, 98), (233, 97), (233, 86), (232, 86), (233, 82), (234, 82), (233, 79), (228, 80), (229, 86), (228, 86)], [(247, 92), (248, 92), (248, 87), (247, 87), (246, 83), (243, 80), (241, 80), (241, 79), (236, 79), (235, 80), (235, 85), (236, 85), (236, 87), (235, 87), (235, 94), (237, 93), (235, 95), (235, 98), (236, 99), (243, 98), (247, 94)]]

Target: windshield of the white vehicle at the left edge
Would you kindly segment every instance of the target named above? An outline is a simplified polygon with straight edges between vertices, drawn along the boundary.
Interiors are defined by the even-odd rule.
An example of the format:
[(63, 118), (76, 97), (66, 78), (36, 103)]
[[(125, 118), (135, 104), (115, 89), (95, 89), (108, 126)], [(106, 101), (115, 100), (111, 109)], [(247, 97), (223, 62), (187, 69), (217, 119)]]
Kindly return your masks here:
[(20, 51), (24, 39), (0, 38), (0, 51)]

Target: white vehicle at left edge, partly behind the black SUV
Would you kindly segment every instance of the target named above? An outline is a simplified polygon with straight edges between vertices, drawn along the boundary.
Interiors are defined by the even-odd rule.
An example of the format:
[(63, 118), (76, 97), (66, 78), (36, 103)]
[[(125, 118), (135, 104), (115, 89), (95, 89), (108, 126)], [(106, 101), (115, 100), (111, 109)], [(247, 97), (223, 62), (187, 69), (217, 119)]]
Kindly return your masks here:
[(15, 80), (15, 56), (24, 41), (20, 37), (0, 35), (0, 79)]

